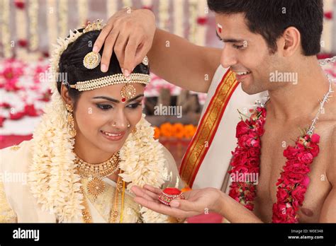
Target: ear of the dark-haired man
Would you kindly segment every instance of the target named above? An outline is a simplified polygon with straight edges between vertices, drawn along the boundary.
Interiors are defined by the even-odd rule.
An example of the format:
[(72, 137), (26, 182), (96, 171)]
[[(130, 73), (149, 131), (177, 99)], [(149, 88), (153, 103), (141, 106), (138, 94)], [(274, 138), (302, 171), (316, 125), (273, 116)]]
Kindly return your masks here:
[(291, 57), (298, 50), (301, 52), (301, 33), (294, 27), (287, 28), (279, 42), (279, 52), (281, 52), (284, 57)]

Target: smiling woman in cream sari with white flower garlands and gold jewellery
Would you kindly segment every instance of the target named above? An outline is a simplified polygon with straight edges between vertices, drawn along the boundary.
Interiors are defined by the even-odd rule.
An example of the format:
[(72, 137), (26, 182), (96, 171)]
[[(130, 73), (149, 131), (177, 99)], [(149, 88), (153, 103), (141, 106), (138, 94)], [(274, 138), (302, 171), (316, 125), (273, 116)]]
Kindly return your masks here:
[[(96, 21), (58, 40), (52, 101), (33, 139), (0, 151), (0, 222), (177, 222), (133, 201), (133, 185), (182, 184), (142, 115), (147, 57), (126, 78), (113, 54), (102, 73), (91, 52), (102, 28)], [(27, 184), (8, 178), (16, 174)]]

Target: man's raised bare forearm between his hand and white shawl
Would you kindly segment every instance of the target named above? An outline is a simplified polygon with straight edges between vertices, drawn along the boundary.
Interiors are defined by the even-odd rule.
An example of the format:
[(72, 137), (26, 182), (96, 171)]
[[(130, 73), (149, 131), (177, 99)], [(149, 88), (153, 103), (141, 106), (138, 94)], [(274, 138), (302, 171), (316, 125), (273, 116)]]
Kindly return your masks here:
[(186, 90), (206, 93), (220, 65), (220, 54), (220, 49), (197, 46), (157, 29), (148, 58), (157, 76)]

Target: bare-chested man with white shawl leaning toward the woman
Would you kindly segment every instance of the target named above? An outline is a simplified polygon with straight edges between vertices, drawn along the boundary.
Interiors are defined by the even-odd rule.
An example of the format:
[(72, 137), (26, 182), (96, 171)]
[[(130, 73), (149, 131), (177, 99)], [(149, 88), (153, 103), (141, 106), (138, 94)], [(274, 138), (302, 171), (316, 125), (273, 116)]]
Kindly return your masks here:
[[(306, 192), (299, 194), (301, 204), (297, 218), (303, 223), (335, 222), (335, 98), (328, 98), (329, 102), (323, 107), (319, 102), (328, 91), (331, 93), (330, 88), (335, 90), (335, 86), (330, 85), (316, 57), (320, 52), (323, 30), (323, 1), (208, 0), (208, 6), (215, 12), (216, 32), (224, 42), (221, 58), (217, 49), (197, 47), (169, 33), (147, 28), (152, 27), (150, 22), (153, 21), (149, 11), (118, 13), (118, 18), (109, 20), (110, 25), (96, 41), (95, 49), (100, 49), (103, 41), (106, 41), (102, 69), (104, 65), (108, 66), (108, 49), (114, 47), (119, 52), (118, 59), (127, 76), (147, 53), (147, 49), (152, 47), (148, 57), (155, 74), (183, 88), (210, 93), (208, 96), (211, 99), (208, 98), (199, 127), (209, 118), (214, 120), (211, 128), (204, 128), (194, 137), (184, 156), (181, 175), (187, 177), (189, 185), (198, 180), (198, 187), (194, 182), (193, 188), (216, 189), (186, 192), (186, 201), (173, 203), (169, 207), (157, 204), (159, 190), (134, 187), (133, 192), (138, 196), (136, 200), (150, 209), (177, 217), (194, 216), (208, 208), (221, 213), (231, 222), (270, 222), (274, 216), (273, 204), (285, 195), (278, 192), (276, 185), (286, 163), (284, 149), (293, 145), (301, 135), (298, 128), (310, 127), (320, 112), (316, 128), (310, 132), (320, 136), (320, 153), (313, 158), (307, 171), (310, 182), (308, 185), (306, 182)], [(143, 30), (142, 34), (136, 30)], [(169, 48), (165, 46), (167, 41), (170, 42)], [(230, 69), (217, 69), (215, 72), (219, 59), (223, 67)], [(207, 74), (211, 83), (204, 80)], [(231, 134), (230, 139), (221, 140), (223, 143), (228, 142), (226, 145), (213, 141), (220, 128), (226, 127), (225, 133), (221, 133), (223, 136), (228, 134), (227, 131), (234, 132), (235, 122), (227, 122), (237, 117), (233, 111), (230, 112), (231, 107), (237, 106), (237, 109), (250, 106), (252, 98), (240, 93), (240, 89), (254, 97), (264, 91), (269, 93), (267, 119), (260, 139), (260, 172), (253, 212), (223, 193), (227, 188), (225, 173), (230, 163), (228, 152), (235, 149), (232, 143), (237, 141), (234, 134)], [(235, 93), (242, 98), (237, 98)], [(231, 107), (230, 102), (234, 102)], [(213, 118), (208, 112), (220, 114)], [(207, 136), (202, 135), (204, 130)], [(210, 137), (209, 141), (198, 142), (198, 139), (203, 141), (207, 137)], [(210, 147), (206, 146), (209, 144)], [(211, 151), (216, 147), (220, 151)], [(186, 160), (188, 156), (190, 160)], [(211, 161), (202, 163), (207, 158), (216, 164), (212, 165)], [(226, 169), (224, 172), (223, 166)], [(295, 166), (289, 169), (293, 171), (291, 174), (297, 175)], [(203, 173), (202, 177), (199, 177), (200, 172)], [(211, 172), (213, 175), (207, 175)], [(215, 185), (208, 185), (211, 182), (208, 180), (214, 180)], [(289, 180), (297, 182), (293, 178)], [(287, 192), (293, 194), (292, 189)]]

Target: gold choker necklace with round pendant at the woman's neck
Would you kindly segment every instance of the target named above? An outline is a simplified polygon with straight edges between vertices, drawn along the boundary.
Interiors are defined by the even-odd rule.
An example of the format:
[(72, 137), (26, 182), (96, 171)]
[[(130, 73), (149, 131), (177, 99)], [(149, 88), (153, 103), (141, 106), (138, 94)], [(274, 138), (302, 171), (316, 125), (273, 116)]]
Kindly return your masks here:
[(103, 178), (113, 175), (119, 168), (119, 153), (114, 153), (113, 156), (103, 163), (90, 164), (76, 155), (74, 162), (77, 164), (77, 170), (81, 177), (89, 179), (87, 184), (87, 192), (96, 199), (105, 190)]

